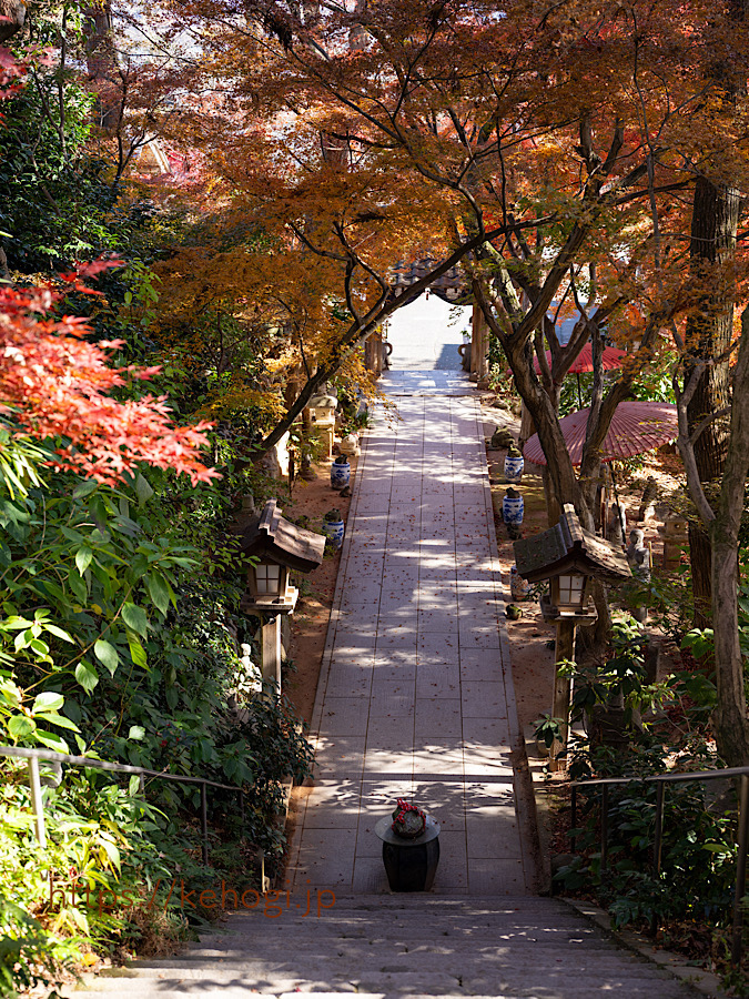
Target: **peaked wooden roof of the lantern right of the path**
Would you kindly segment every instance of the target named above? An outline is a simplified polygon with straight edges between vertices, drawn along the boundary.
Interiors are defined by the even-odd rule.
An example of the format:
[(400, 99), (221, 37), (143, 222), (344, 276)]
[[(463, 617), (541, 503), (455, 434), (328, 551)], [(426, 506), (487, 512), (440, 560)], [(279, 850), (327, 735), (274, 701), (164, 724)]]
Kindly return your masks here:
[(631, 576), (621, 548), (586, 531), (571, 503), (565, 503), (558, 524), (514, 542), (513, 547), (518, 575), (529, 583), (570, 572), (609, 579)]

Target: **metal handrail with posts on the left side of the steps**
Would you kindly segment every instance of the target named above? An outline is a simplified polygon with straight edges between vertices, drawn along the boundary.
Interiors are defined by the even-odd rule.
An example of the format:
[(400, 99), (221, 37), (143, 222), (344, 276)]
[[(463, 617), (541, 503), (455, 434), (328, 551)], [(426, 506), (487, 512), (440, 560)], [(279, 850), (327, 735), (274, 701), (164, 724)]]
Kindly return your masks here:
[(200, 785), (200, 820), (202, 838), (203, 864), (209, 862), (209, 836), (208, 836), (208, 788), (217, 787), (221, 790), (234, 791), (240, 796), (240, 820), (244, 826), (244, 791), (241, 787), (230, 784), (219, 784), (205, 777), (189, 777), (181, 774), (169, 774), (165, 770), (149, 770), (145, 767), (131, 767), (129, 764), (110, 763), (105, 759), (95, 759), (91, 756), (71, 756), (68, 753), (54, 753), (52, 749), (23, 749), (20, 746), (0, 746), (0, 756), (26, 759), (29, 768), (29, 787), (31, 790), (31, 805), (34, 813), (34, 830), (39, 846), (47, 846), (47, 829), (44, 826), (44, 803), (39, 775), (39, 760), (70, 764), (74, 767), (85, 767), (97, 770), (115, 770), (120, 774), (136, 774), (140, 777), (141, 794), (145, 790), (145, 777), (154, 777), (161, 780), (173, 780), (178, 784)]

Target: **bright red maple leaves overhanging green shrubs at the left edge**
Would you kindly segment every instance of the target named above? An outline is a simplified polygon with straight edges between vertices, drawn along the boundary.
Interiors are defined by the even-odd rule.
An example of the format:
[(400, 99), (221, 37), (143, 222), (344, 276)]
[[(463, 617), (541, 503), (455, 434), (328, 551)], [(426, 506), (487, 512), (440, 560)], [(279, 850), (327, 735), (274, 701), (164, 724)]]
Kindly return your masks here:
[[(80, 265), (65, 275), (65, 290), (90, 292), (81, 276), (119, 264)], [(138, 462), (183, 472), (193, 485), (217, 477), (199, 456), (211, 424), (173, 426), (165, 396), (118, 402), (105, 394), (159, 369), (109, 367), (107, 351), (120, 342), (89, 343), (84, 319), (51, 314), (62, 299), (51, 286), (0, 286), (0, 412), (36, 437), (65, 438), (51, 464), (97, 482), (114, 485)]]

